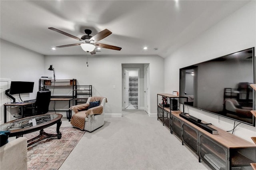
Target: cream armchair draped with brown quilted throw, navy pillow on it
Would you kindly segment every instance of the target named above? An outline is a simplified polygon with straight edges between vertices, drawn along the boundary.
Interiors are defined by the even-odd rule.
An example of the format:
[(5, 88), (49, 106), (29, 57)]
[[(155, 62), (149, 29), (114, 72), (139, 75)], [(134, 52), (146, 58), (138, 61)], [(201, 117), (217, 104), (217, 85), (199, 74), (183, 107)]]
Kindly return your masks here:
[(71, 125), (92, 132), (104, 125), (105, 97), (89, 97), (85, 104), (70, 107)]

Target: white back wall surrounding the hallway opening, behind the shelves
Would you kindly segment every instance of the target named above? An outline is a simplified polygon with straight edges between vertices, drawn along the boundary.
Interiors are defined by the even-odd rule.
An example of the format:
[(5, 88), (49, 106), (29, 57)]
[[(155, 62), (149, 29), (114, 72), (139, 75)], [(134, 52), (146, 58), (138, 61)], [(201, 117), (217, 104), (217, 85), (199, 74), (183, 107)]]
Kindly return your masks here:
[[(151, 56), (126, 55), (48, 55), (45, 57), (44, 76), (52, 76), (47, 71), (54, 65), (56, 79), (75, 78), (80, 85), (92, 85), (93, 95), (104, 96), (107, 114), (122, 113), (122, 64), (149, 63), (150, 65), (150, 114), (157, 113), (156, 94), (164, 91), (164, 59)], [(116, 89), (113, 89), (113, 85)]]

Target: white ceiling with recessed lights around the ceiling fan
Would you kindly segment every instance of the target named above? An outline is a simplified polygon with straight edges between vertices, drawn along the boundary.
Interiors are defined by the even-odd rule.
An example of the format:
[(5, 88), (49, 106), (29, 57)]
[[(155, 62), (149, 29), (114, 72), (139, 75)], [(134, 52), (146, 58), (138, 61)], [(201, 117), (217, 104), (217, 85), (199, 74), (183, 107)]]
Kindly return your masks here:
[[(84, 55), (86, 52), (79, 45), (52, 50), (80, 41), (48, 27), (79, 38), (85, 35), (84, 29), (91, 29), (91, 36), (108, 29), (112, 34), (99, 42), (122, 50), (102, 48), (97, 55), (167, 57), (246, 3), (243, 0), (1, 0), (0, 38), (43, 55)], [(144, 46), (148, 49), (144, 50)]]

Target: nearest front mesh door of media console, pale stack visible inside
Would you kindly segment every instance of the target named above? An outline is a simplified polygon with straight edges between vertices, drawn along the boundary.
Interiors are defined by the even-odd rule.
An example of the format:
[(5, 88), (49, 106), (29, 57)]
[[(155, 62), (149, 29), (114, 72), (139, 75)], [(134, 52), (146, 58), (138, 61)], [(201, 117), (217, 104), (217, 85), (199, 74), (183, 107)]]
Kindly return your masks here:
[(203, 134), (199, 134), (199, 138), (199, 157), (212, 169), (230, 169), (228, 167), (228, 149)]

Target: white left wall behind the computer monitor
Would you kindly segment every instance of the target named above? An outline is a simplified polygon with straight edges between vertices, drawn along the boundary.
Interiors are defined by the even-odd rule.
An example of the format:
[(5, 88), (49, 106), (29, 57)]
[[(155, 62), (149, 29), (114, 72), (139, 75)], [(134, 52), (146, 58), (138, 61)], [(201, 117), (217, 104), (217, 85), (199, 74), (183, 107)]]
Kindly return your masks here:
[[(33, 93), (20, 96), (22, 100), (35, 99), (38, 80), (44, 73), (44, 55), (2, 39), (0, 41), (0, 78), (11, 81), (34, 81)], [(19, 95), (13, 97), (20, 101)]]

